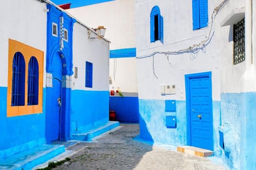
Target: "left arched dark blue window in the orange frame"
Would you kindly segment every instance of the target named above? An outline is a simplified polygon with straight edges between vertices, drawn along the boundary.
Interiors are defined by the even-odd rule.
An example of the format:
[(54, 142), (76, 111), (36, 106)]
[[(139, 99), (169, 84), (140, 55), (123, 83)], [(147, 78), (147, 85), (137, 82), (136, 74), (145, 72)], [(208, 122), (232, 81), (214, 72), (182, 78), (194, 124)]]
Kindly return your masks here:
[(19, 106), (25, 104), (25, 67), (25, 60), (22, 53), (16, 52), (13, 57), (11, 106)]

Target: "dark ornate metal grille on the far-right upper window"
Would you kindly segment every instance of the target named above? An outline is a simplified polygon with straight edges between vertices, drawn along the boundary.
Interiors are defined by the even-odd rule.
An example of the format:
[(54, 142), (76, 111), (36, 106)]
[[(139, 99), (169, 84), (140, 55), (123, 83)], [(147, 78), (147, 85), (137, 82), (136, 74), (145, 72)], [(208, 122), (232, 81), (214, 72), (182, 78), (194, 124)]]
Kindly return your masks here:
[(233, 64), (245, 61), (245, 19), (242, 19), (233, 28)]

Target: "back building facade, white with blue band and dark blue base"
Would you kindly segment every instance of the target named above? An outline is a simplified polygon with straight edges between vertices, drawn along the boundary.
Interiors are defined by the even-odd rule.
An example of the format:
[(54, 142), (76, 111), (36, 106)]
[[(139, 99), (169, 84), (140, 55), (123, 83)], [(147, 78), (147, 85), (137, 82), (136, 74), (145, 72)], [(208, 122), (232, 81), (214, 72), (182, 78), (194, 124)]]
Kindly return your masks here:
[[(94, 28), (104, 25), (111, 41), (109, 55), (110, 111), (122, 122), (138, 122), (135, 1), (108, 1), (75, 6), (70, 14)], [(118, 15), (117, 15), (118, 14)], [(88, 17), (90, 16), (90, 17)], [(95, 41), (97, 42), (97, 40)]]

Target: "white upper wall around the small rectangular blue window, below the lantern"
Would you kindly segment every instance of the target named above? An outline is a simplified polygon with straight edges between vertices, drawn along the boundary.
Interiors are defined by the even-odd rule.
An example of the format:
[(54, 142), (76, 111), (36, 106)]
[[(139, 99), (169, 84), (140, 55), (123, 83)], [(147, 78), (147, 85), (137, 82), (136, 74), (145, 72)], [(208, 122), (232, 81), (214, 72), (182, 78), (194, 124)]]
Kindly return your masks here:
[[(93, 88), (85, 87), (85, 62), (93, 63)], [(77, 79), (72, 75), (74, 90), (109, 90), (109, 42), (90, 40), (88, 30), (79, 23), (73, 28), (73, 70), (77, 67)]]

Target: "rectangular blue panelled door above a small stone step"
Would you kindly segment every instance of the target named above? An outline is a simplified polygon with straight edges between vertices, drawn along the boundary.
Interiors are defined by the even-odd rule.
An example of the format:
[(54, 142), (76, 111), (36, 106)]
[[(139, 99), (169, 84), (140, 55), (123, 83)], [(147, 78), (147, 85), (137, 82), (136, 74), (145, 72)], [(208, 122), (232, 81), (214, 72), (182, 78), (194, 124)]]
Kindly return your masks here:
[(188, 145), (213, 150), (211, 72), (185, 75)]

